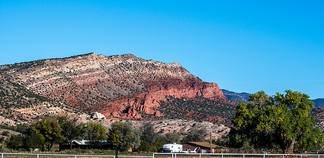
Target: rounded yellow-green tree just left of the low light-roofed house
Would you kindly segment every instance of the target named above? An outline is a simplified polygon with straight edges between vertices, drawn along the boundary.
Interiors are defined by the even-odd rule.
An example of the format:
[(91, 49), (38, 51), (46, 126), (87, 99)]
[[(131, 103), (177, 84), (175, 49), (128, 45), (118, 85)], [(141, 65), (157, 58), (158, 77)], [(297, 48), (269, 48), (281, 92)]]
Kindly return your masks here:
[(44, 146), (47, 151), (50, 151), (54, 143), (61, 143), (64, 141), (62, 136), (62, 128), (56, 119), (44, 117), (32, 124), (30, 130), (44, 140)]

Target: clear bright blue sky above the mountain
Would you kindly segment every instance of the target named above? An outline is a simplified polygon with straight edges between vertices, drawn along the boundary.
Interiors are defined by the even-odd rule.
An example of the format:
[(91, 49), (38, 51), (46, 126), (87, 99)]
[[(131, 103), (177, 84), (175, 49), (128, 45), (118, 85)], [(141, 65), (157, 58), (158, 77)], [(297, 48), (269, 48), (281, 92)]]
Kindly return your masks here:
[(0, 1), (0, 65), (95, 52), (324, 98), (324, 1)]

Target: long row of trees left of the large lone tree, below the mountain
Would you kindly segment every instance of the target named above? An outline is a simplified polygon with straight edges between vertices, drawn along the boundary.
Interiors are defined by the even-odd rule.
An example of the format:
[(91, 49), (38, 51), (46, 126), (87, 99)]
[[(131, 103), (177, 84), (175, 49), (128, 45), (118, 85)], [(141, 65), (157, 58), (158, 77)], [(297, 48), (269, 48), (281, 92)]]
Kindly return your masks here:
[(131, 121), (115, 121), (109, 128), (102, 123), (87, 122), (76, 123), (76, 118), (70, 117), (43, 117), (31, 125), (20, 124), (15, 127), (4, 126), (0, 128), (19, 132), (9, 135), (4, 131), (0, 137), (0, 150), (6, 149), (30, 150), (42, 149), (50, 151), (54, 144), (69, 143), (73, 140), (87, 140), (87, 148), (100, 148), (102, 141), (107, 141), (111, 149), (119, 151), (157, 151), (167, 143), (181, 143), (186, 141), (204, 141), (203, 129), (194, 129), (187, 134), (173, 131), (161, 135), (154, 131), (150, 122), (143, 122), (135, 128)]

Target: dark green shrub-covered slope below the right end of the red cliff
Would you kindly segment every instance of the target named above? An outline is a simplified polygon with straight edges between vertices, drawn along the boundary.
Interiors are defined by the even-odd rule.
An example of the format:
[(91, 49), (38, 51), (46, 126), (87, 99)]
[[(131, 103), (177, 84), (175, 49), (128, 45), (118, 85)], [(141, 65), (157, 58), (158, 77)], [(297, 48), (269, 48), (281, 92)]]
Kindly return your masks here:
[(160, 111), (170, 119), (200, 120), (230, 126), (235, 115), (235, 102), (220, 102), (204, 97), (174, 98), (161, 101)]

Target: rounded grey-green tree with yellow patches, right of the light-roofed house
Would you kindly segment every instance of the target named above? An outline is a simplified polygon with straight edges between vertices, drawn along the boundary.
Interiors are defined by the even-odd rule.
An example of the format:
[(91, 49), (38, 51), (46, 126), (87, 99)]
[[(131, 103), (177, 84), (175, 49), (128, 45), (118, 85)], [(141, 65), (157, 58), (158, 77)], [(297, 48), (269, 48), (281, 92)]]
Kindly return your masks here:
[(120, 151), (127, 151), (131, 147), (138, 148), (141, 143), (140, 132), (129, 121), (116, 121), (108, 129), (108, 142)]

